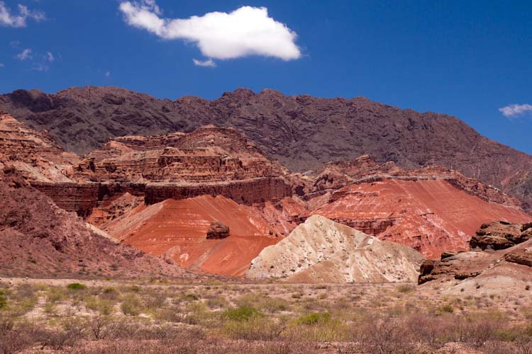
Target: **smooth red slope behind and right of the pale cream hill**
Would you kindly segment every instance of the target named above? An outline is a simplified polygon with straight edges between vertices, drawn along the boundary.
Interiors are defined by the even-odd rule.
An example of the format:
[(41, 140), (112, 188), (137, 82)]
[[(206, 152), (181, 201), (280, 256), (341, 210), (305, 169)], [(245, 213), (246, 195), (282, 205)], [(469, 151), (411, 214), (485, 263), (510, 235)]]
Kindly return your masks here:
[(519, 207), (487, 202), (444, 179), (400, 178), (348, 185), (311, 214), (406, 244), (427, 258), (466, 250), (470, 235), (483, 222), (531, 218)]

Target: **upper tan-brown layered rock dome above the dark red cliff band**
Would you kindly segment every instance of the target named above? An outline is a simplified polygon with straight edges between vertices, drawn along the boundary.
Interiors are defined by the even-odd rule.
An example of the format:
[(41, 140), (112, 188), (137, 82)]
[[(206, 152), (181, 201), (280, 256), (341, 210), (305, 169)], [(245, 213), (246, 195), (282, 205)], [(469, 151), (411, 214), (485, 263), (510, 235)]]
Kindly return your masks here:
[(189, 134), (118, 137), (87, 155), (82, 175), (93, 181), (221, 182), (287, 174), (230, 128), (200, 127)]

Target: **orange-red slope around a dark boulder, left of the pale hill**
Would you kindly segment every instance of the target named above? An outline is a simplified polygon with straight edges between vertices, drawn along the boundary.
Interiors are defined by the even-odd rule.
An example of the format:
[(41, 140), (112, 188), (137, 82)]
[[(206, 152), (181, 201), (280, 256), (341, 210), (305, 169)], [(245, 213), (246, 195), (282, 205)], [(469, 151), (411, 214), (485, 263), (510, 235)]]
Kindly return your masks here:
[[(224, 239), (206, 239), (211, 222), (231, 230)], [(139, 205), (104, 227), (126, 244), (153, 255), (166, 254), (179, 265), (201, 273), (242, 276), (266, 246), (280, 239), (256, 207), (204, 195)]]

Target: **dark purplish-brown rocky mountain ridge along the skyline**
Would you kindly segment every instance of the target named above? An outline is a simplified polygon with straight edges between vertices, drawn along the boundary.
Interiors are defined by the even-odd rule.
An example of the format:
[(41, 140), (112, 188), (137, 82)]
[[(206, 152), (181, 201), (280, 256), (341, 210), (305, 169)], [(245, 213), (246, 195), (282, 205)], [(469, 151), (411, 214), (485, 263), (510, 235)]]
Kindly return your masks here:
[(65, 149), (85, 153), (111, 137), (190, 132), (201, 125), (235, 127), (293, 171), (370, 154), (404, 169), (441, 165), (532, 202), (532, 156), (482, 137), (458, 118), (418, 113), (367, 98), (284, 96), (237, 89), (213, 101), (160, 100), (116, 87), (18, 90), (0, 109)]

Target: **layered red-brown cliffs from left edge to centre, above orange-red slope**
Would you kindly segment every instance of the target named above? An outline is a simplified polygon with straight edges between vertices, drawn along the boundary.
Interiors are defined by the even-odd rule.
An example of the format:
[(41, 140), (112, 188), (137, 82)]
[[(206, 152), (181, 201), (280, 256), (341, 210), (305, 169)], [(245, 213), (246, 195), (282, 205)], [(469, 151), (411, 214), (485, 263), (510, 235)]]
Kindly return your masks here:
[(248, 205), (292, 194), (287, 170), (228, 128), (119, 137), (80, 161), (45, 132), (2, 114), (0, 147), (2, 166), (14, 166), (58, 206), (81, 216), (124, 193), (144, 196), (148, 204), (224, 195)]

